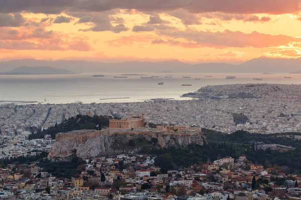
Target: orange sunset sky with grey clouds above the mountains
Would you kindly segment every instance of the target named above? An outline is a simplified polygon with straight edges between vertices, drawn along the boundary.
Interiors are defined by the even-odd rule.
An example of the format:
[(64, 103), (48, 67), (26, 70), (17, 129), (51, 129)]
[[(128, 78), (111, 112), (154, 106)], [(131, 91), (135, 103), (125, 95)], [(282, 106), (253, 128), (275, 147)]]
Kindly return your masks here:
[(0, 0), (0, 60), (301, 56), (301, 0)]

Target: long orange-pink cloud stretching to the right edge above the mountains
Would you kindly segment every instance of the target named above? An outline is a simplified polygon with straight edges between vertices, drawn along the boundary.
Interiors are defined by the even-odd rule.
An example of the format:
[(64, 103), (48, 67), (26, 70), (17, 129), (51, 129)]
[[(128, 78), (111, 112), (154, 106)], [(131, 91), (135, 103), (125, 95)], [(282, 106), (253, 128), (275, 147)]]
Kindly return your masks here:
[[(162, 35), (172, 37), (170, 40), (155, 40), (152, 43), (179, 45), (188, 48), (199, 47), (276, 47), (286, 45), (292, 42), (301, 42), (301, 38), (288, 35), (272, 35), (253, 31), (244, 33), (241, 31), (225, 30), (223, 32), (200, 31), (195, 29), (187, 29), (186, 31), (165, 31), (161, 30)], [(185, 39), (186, 42), (178, 39)]]

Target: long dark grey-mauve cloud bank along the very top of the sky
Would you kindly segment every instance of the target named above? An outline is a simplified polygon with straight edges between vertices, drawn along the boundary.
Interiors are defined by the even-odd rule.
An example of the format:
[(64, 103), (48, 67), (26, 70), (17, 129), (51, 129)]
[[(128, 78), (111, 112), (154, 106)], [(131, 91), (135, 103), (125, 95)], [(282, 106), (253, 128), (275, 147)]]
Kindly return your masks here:
[(297, 13), (300, 0), (1, 0), (0, 12), (61, 13), (63, 11), (107, 11), (115, 8), (140, 11), (191, 13)]

